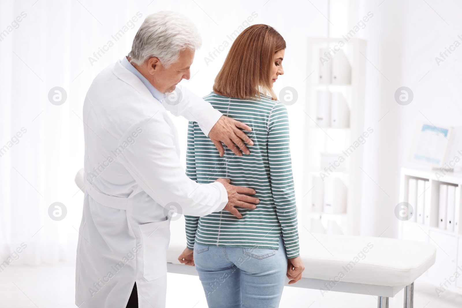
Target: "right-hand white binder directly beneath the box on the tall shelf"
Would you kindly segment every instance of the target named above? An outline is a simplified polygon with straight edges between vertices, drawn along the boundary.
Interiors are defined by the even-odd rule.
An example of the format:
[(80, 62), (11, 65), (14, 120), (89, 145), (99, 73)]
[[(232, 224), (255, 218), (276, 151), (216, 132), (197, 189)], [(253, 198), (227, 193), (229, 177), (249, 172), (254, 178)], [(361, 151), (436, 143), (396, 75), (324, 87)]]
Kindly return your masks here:
[(346, 186), (339, 178), (328, 177), (324, 181), (324, 213), (346, 212)]

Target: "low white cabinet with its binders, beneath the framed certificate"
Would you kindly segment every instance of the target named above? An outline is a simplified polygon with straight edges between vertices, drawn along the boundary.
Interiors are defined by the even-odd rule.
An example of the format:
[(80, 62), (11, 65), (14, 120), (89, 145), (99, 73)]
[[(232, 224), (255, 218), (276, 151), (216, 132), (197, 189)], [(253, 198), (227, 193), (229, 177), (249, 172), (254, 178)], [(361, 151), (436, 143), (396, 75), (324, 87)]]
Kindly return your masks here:
[[(424, 193), (417, 193), (414, 198), (413, 183), (425, 181), (426, 190)], [(450, 187), (451, 206), (454, 203), (454, 210), (445, 211), (447, 198), (441, 194), (441, 187)], [(419, 197), (425, 196), (424, 220), (400, 220), (399, 235), (401, 239), (428, 242), (437, 249), (435, 264), (428, 269), (423, 277), (441, 290), (451, 290), (462, 294), (462, 228), (459, 223), (462, 221), (461, 211), (461, 186), (462, 174), (448, 173), (444, 176), (438, 171), (423, 171), (415, 169), (401, 169), (400, 203), (416, 203)], [(444, 189), (443, 189), (444, 190)], [(443, 192), (444, 193), (444, 192)], [(443, 201), (442, 201), (443, 200)], [(421, 205), (421, 204), (420, 204)], [(411, 204), (414, 214), (417, 213), (417, 204)], [(446, 217), (440, 217), (446, 215)], [(454, 220), (454, 225), (447, 228), (447, 218)], [(441, 223), (443, 219), (444, 224)], [(442, 285), (444, 287), (442, 287)]]

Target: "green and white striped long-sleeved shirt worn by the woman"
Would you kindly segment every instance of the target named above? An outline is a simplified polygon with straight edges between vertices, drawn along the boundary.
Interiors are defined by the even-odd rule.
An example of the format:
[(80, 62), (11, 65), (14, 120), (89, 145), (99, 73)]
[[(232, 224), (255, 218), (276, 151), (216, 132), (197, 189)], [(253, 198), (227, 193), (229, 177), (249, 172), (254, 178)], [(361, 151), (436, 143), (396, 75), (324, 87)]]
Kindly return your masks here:
[(232, 185), (255, 189), (260, 203), (254, 210), (237, 208), (238, 219), (228, 211), (204, 217), (185, 216), (187, 246), (279, 248), (282, 234), (287, 258), (299, 255), (297, 211), (289, 150), (286, 106), (271, 97), (240, 100), (211, 92), (204, 100), (213, 108), (252, 128), (250, 155), (239, 157), (225, 146), (219, 156), (213, 142), (196, 122), (188, 125), (186, 174), (201, 184), (228, 178)]

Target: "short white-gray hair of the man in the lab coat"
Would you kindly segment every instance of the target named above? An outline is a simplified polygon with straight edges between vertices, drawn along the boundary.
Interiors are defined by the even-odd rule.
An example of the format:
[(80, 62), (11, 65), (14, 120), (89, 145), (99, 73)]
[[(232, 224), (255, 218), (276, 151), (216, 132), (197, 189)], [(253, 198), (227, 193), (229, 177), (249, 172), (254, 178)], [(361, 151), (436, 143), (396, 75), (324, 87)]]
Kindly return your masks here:
[(197, 28), (186, 16), (173, 11), (160, 11), (148, 15), (141, 24), (128, 56), (137, 65), (157, 57), (168, 67), (178, 59), (181, 50), (195, 50), (201, 45)]

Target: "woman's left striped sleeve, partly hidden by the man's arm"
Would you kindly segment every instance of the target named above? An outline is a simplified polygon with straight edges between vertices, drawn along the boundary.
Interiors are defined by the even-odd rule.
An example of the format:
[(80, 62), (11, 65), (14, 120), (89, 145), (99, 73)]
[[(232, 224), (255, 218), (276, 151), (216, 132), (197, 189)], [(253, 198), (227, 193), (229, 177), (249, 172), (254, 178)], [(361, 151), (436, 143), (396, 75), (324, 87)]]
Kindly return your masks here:
[[(195, 150), (194, 150), (194, 122), (188, 123), (188, 145), (186, 149), (186, 175), (191, 180), (197, 182)], [(186, 222), (185, 224), (186, 247), (193, 250), (199, 217), (185, 215), (184, 219)]]

